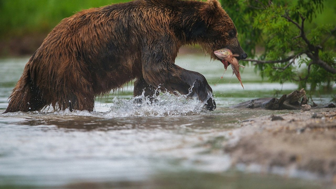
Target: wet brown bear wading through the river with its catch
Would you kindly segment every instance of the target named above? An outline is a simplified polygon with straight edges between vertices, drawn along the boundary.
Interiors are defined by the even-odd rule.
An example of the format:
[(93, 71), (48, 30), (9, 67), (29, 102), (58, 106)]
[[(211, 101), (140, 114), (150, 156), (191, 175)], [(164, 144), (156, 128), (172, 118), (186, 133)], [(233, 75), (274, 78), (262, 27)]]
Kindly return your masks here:
[(93, 111), (101, 93), (134, 82), (134, 96), (155, 89), (188, 94), (214, 110), (212, 89), (200, 73), (175, 65), (182, 45), (229, 48), (245, 59), (237, 30), (218, 0), (134, 0), (64, 18), (31, 56), (6, 112)]

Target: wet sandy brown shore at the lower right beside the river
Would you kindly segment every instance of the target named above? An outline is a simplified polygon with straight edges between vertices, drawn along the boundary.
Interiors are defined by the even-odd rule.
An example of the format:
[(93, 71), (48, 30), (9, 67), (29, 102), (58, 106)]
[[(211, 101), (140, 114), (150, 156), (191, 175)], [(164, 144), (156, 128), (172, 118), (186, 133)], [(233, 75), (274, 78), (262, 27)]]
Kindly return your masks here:
[(336, 183), (336, 108), (263, 116), (240, 124), (224, 148), (233, 165), (289, 176), (299, 171)]

